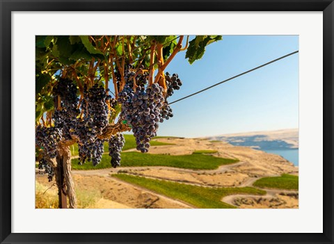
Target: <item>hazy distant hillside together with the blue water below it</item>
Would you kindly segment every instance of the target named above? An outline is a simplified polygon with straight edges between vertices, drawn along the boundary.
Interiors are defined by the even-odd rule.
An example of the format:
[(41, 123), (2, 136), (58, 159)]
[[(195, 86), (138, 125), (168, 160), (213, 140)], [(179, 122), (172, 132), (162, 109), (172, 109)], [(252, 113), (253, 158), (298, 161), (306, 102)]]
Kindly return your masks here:
[(232, 145), (253, 147), (262, 150), (299, 148), (299, 129), (276, 131), (252, 131), (209, 136), (209, 140), (222, 140)]

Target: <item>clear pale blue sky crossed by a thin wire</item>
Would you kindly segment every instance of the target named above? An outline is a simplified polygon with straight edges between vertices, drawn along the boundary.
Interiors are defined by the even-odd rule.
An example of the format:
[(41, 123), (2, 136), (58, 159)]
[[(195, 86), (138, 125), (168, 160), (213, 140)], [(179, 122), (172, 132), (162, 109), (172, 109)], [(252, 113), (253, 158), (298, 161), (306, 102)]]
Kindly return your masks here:
[[(181, 97), (299, 49), (297, 35), (223, 35), (190, 65), (180, 52), (166, 71), (183, 86)], [(299, 55), (294, 54), (215, 88), (172, 104), (174, 117), (159, 136), (200, 137), (298, 128)]]

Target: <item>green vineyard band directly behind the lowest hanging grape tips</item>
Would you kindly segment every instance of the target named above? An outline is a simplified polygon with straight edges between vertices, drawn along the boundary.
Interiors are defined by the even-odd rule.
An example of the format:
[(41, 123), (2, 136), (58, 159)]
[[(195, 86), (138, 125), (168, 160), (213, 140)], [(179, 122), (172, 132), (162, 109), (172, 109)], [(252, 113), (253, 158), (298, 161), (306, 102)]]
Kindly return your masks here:
[[(218, 158), (205, 154), (190, 155), (163, 155), (163, 154), (142, 154), (140, 152), (122, 152), (122, 167), (140, 167), (140, 166), (168, 166), (175, 168), (186, 168), (193, 170), (214, 170), (220, 165), (237, 163), (238, 160), (230, 158)], [(73, 170), (97, 170), (102, 168), (111, 168), (111, 157), (108, 154), (102, 156), (102, 161), (96, 167), (92, 163), (86, 162), (84, 165), (78, 165), (77, 158), (72, 159)]]

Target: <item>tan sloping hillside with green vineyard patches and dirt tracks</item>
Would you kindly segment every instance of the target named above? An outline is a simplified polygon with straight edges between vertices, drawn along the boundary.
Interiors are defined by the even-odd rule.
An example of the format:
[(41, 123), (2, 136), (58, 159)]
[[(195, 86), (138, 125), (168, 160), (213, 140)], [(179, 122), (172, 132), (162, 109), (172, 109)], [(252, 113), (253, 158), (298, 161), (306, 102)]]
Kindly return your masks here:
[[(248, 157), (256, 153), (267, 158), (268, 167), (262, 170), (244, 156), (244, 150), (243, 154), (233, 152), (238, 147), (168, 137), (155, 138), (150, 153), (141, 154), (134, 152), (134, 137), (125, 136), (119, 168), (111, 168), (107, 154), (95, 168), (90, 163), (78, 166), (77, 158), (72, 158), (79, 190), (101, 197), (95, 200), (95, 208), (298, 207), (298, 176), (286, 174), (298, 168), (281, 158), (267, 158), (269, 154), (250, 149)], [(276, 164), (285, 172), (278, 168), (271, 172)]]

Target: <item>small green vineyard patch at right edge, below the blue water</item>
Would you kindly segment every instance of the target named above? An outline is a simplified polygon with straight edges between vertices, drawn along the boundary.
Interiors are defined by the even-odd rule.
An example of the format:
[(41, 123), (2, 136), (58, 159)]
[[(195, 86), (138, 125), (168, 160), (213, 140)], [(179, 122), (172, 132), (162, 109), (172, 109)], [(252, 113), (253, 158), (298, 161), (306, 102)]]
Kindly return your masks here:
[(255, 181), (253, 186), (260, 188), (298, 190), (299, 177), (291, 174), (282, 174), (280, 177), (266, 177)]

